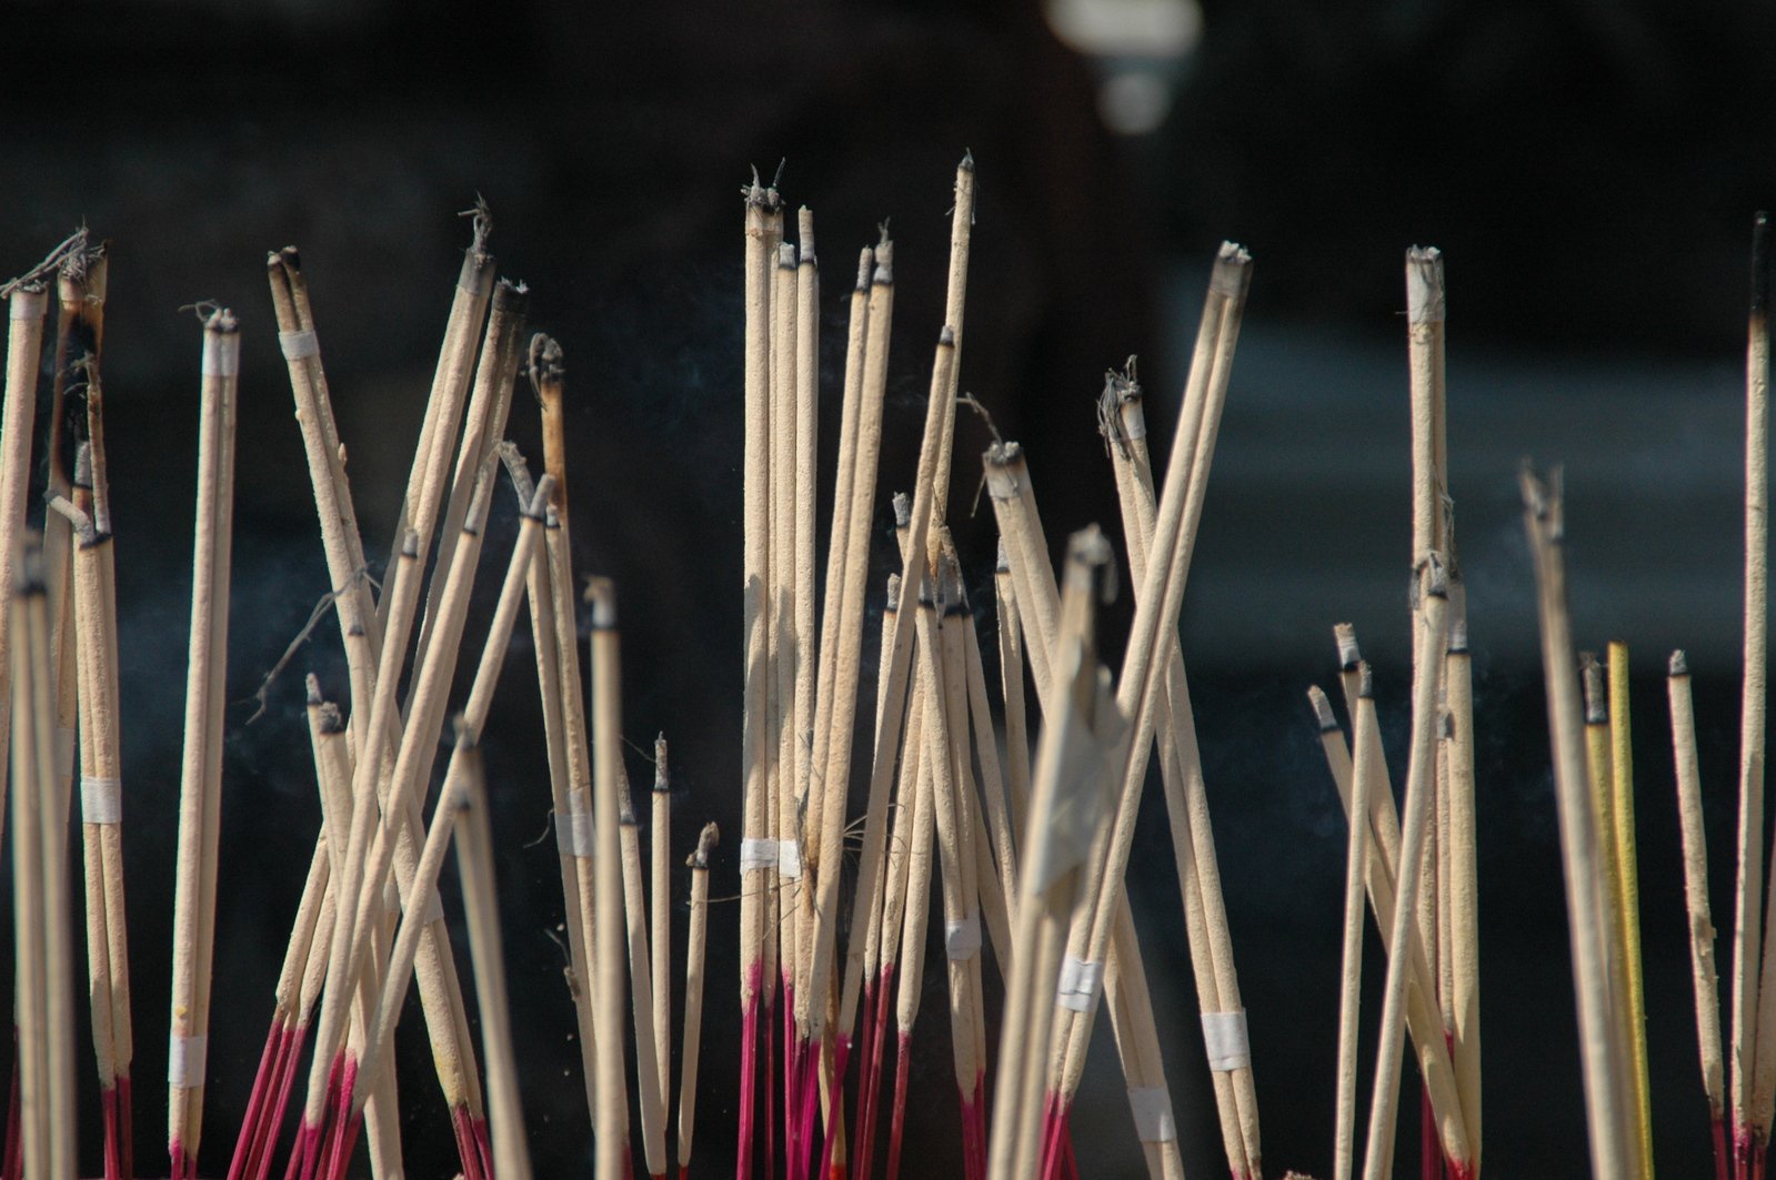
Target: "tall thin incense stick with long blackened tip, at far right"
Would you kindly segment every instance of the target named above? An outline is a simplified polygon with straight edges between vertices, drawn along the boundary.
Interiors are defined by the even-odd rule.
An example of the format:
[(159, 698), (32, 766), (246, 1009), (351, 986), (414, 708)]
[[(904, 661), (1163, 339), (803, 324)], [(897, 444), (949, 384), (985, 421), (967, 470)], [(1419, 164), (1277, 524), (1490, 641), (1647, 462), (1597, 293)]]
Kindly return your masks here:
[(1733, 889), (1732, 1104), (1733, 1166), (1751, 1160), (1758, 964), (1764, 914), (1765, 655), (1769, 626), (1769, 216), (1751, 222), (1751, 314), (1746, 342), (1746, 630), (1739, 713), (1739, 878)]

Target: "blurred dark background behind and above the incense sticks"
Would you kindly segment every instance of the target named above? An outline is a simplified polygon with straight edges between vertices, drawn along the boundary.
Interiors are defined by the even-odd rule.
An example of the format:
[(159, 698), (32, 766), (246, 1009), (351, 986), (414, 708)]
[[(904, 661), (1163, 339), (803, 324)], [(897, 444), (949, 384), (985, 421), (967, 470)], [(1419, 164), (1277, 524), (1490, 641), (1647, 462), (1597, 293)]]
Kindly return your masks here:
[[(1405, 761), (1401, 257), (1424, 243), (1447, 254), (1449, 468), (1478, 673), (1487, 1164), (1570, 1176), (1586, 1159), (1513, 479), (1533, 454), (1566, 463), (1581, 642), (1620, 637), (1634, 651), (1655, 1143), (1668, 1175), (1701, 1175), (1662, 667), (1669, 648), (1691, 651), (1714, 903), (1730, 924), (1744, 259), (1751, 211), (1776, 192), (1772, 21), (1730, 0), (7, 5), (0, 273), (27, 270), (80, 222), (112, 240), (105, 371), (144, 1166), (160, 1159), (195, 463), (199, 330), (178, 309), (215, 298), (243, 321), (229, 674), (245, 699), (327, 591), (265, 250), (302, 248), (380, 555), (467, 241), (453, 215), (488, 199), (501, 273), (531, 284), (535, 326), (567, 350), (575, 557), (622, 587), (630, 772), (664, 729), (675, 845), (687, 854), (705, 818), (721, 822), (714, 893), (726, 898), (739, 838), (739, 185), (785, 160), (787, 199), (819, 218), (828, 460), (852, 252), (892, 218), (886, 541), (886, 493), (911, 479), (940, 326), (952, 170), (971, 149), (961, 380), (1028, 447), (1057, 545), (1087, 522), (1115, 523), (1092, 417), (1103, 371), (1138, 353), (1153, 433), (1169, 437), (1206, 263), (1224, 238), (1256, 257), (1183, 635), (1268, 1171), (1330, 1171), (1344, 832), (1302, 692), (1332, 683), (1337, 619), (1357, 623), (1376, 660)], [(510, 433), (540, 452), (522, 396)], [(961, 417), (954, 523), (991, 628), (991, 520), (964, 518), (987, 440)], [(824, 504), (831, 472), (822, 479)], [(465, 646), (480, 644), (511, 536), (501, 500)], [(1126, 619), (1126, 603), (1112, 610), (1106, 649)], [(206, 1173), (226, 1169), (318, 827), (300, 671), (343, 692), (336, 648), (320, 628), (265, 719), (245, 724), (245, 703), (229, 713)], [(542, 1175), (574, 1175), (588, 1132), (552, 940), (561, 903), (529, 662), (520, 625), (487, 756), (533, 1157)], [(1185, 1162), (1215, 1175), (1177, 887), (1149, 795), (1130, 889)], [(460, 914), (455, 898), (448, 909)], [(696, 1175), (732, 1168), (735, 910), (721, 903), (710, 923)], [(1373, 935), (1368, 967), (1373, 1036)], [(1076, 1120), (1087, 1171), (1138, 1175), (1114, 1052), (1098, 1040)], [(931, 972), (908, 1136), (922, 1168), (957, 1175), (945, 1045)], [(410, 1173), (451, 1175), (417, 1027), (401, 1054)], [(1408, 1070), (1403, 1111), (1414, 1095)], [(83, 1162), (96, 1169), (96, 1116), (91, 1130)]]

